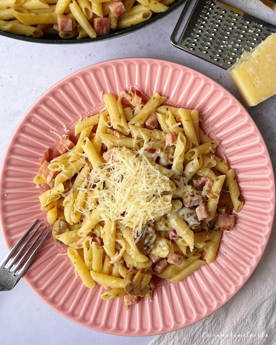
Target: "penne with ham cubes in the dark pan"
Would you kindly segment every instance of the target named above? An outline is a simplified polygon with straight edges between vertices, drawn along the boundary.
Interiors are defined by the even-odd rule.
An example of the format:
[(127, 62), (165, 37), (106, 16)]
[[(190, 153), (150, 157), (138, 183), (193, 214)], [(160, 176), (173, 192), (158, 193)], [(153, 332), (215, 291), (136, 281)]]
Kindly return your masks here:
[(95, 38), (149, 20), (168, 6), (157, 0), (0, 0), (0, 30), (34, 38)]

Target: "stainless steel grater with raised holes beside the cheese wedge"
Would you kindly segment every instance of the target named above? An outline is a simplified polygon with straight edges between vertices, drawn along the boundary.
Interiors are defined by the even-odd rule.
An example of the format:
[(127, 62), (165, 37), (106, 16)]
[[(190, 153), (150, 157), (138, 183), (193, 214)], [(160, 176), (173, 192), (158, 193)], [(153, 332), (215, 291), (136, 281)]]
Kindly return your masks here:
[(173, 30), (171, 43), (222, 68), (230, 68), (242, 53), (250, 51), (276, 32), (274, 25), (224, 2), (197, 0), (176, 42), (175, 36), (190, 2), (185, 4)]

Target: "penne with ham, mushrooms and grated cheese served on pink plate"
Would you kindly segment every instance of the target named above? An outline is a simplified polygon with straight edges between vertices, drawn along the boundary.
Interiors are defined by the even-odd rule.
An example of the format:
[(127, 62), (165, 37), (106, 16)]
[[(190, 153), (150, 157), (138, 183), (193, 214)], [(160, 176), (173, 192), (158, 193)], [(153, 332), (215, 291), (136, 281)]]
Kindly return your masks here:
[(211, 264), (243, 202), (197, 110), (137, 89), (103, 100), (107, 110), (75, 125), (76, 145), (54, 132), (61, 155), (46, 150), (34, 183), (50, 186), (41, 209), (84, 285), (128, 308), (152, 298), (154, 275), (179, 283)]

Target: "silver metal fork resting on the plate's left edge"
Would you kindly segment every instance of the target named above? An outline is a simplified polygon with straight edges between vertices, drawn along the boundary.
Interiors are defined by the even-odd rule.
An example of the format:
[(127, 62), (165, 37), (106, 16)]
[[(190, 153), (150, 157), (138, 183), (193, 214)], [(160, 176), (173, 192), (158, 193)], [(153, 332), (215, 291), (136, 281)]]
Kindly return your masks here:
[[(40, 229), (40, 227), (42, 225), (42, 223), (41, 223), (38, 226), (38, 228), (34, 231), (34, 233), (31, 234), (31, 236), (26, 241), (26, 243), (19, 249), (19, 251), (15, 255), (15, 257), (12, 259), (13, 254), (15, 254), (16, 250), (18, 249), (18, 247), (21, 245), (21, 243), (24, 241), (24, 239), (28, 236), (28, 234), (30, 233), (32, 228), (36, 225), (36, 223), (37, 223), (37, 220), (34, 221), (34, 223), (26, 231), (26, 233), (20, 238), (20, 240), (15, 244), (15, 246), (11, 249), (11, 251), (8, 253), (8, 255), (0, 263), (0, 291), (10, 291), (11, 289), (13, 289), (16, 286), (16, 284), (19, 282), (20, 278), (22, 278), (23, 274), (26, 272), (27, 268), (30, 266), (30, 264), (31, 264), (32, 260), (34, 259), (34, 257), (37, 255), (39, 249), (42, 247), (42, 245), (46, 241), (47, 237), (50, 235), (51, 230), (49, 230), (48, 233), (42, 238), (42, 240), (39, 243), (39, 245), (36, 247), (34, 252), (32, 252), (32, 254), (27, 259), (28, 254), (30, 253), (32, 248), (34, 248), (34, 246), (38, 242), (39, 238), (42, 236), (42, 234), (46, 230), (47, 226), (45, 226), (45, 228), (41, 231), (41, 233), (36, 237), (34, 242), (28, 248), (26, 253), (22, 257), (20, 257), (21, 253), (23, 252), (23, 250), (27, 247), (27, 245), (30, 243), (32, 238), (34, 238), (34, 236), (36, 235), (37, 231)], [(11, 259), (12, 259), (12, 261), (9, 263), (9, 260), (11, 260)], [(26, 259), (27, 259), (27, 261), (22, 266), (23, 262)], [(16, 263), (16, 265), (13, 268), (13, 265), (15, 263)], [(21, 269), (19, 270), (20, 267), (21, 267)]]

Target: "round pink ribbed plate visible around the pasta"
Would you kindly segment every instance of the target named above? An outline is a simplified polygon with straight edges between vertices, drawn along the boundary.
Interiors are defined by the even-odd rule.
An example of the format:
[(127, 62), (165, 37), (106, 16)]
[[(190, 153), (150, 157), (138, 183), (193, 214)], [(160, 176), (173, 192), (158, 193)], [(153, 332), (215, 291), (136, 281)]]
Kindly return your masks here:
[[(249, 278), (264, 252), (272, 228), (275, 184), (270, 157), (261, 134), (247, 111), (215, 81), (177, 63), (127, 58), (97, 63), (59, 81), (23, 116), (7, 147), (1, 167), (1, 228), (8, 249), (38, 218), (37, 189), (32, 183), (39, 159), (58, 137), (73, 135), (74, 124), (104, 107), (101, 91), (116, 95), (131, 85), (152, 95), (167, 96), (166, 104), (202, 113), (203, 130), (216, 127), (211, 137), (221, 140), (238, 180), (244, 207), (235, 215), (235, 228), (222, 236), (218, 257), (179, 284), (156, 282), (153, 300), (125, 311), (122, 298), (105, 302), (104, 288), (86, 288), (66, 256), (67, 246), (48, 238), (24, 276), (30, 288), (68, 319), (117, 335), (154, 335), (201, 320), (226, 303)], [(64, 127), (70, 129), (66, 133)]]

